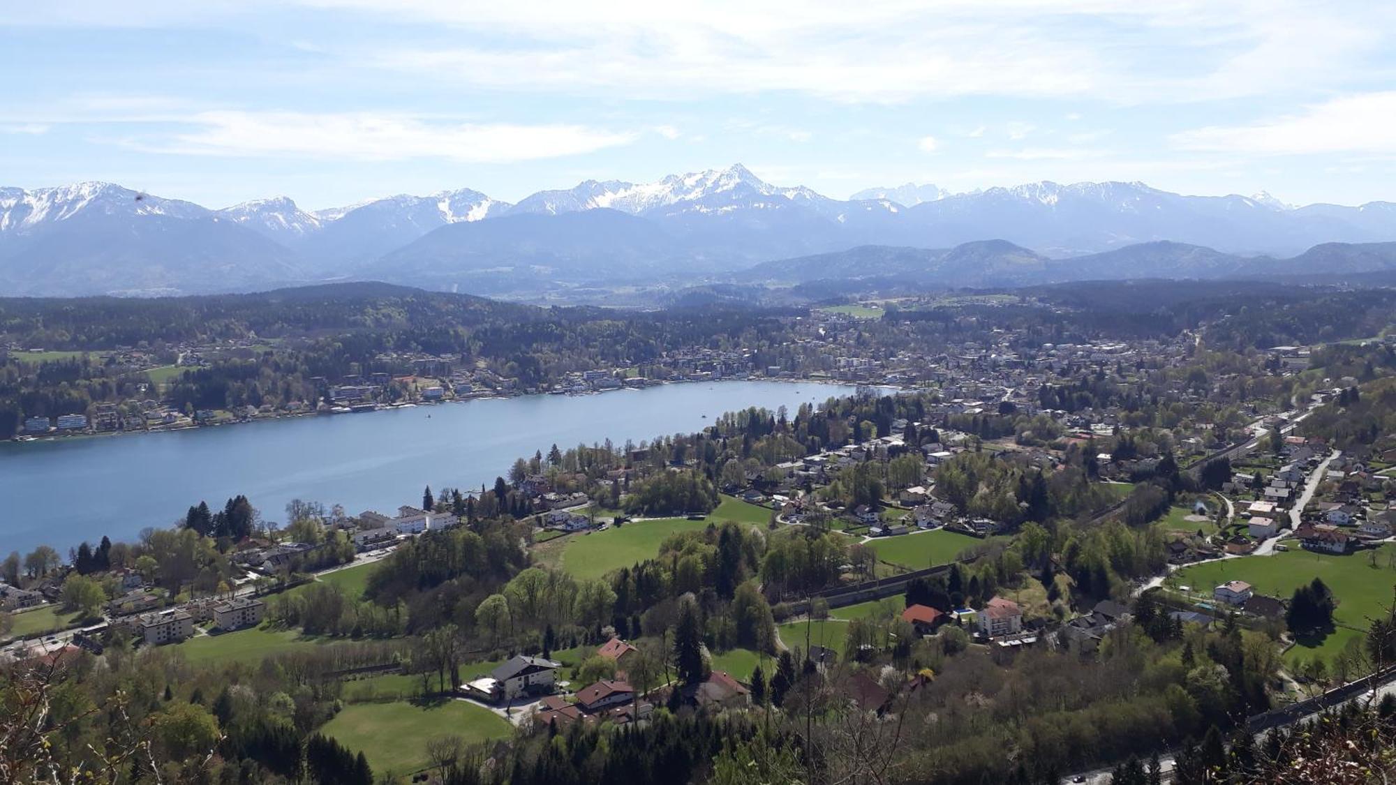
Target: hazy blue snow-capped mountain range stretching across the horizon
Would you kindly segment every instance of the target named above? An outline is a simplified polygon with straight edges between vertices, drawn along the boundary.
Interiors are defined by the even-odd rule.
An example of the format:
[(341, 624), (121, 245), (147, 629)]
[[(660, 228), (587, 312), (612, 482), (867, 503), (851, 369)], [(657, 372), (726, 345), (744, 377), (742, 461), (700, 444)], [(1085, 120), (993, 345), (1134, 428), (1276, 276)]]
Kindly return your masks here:
[[(1381, 244), (1393, 240), (1393, 203), (1291, 208), (1266, 194), (1192, 197), (1120, 182), (965, 194), (907, 183), (835, 200), (772, 186), (741, 165), (653, 183), (588, 180), (518, 204), (461, 189), (314, 212), (285, 197), (209, 210), (80, 183), (0, 189), (0, 293), (381, 279), (528, 296), (697, 281), (1351, 274), (1396, 268), (1393, 246)], [(1339, 244), (1308, 251), (1322, 243)]]

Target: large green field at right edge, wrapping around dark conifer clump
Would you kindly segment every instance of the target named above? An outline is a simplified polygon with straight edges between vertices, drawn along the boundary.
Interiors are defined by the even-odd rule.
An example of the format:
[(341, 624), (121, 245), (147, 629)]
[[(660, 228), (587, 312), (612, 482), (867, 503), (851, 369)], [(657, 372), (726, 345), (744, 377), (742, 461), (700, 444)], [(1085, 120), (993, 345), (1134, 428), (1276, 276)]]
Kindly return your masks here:
[(1369, 556), (1361, 553), (1329, 556), (1298, 549), (1275, 556), (1227, 559), (1178, 570), (1170, 582), (1192, 587), (1210, 599), (1212, 587), (1241, 580), (1255, 587), (1258, 594), (1289, 599), (1300, 585), (1322, 578), (1337, 598), (1337, 610), (1333, 612), (1337, 629), (1322, 640), (1301, 638), (1284, 655), (1286, 662), (1294, 665), (1315, 656), (1332, 659), (1347, 641), (1362, 636), (1360, 630), (1365, 630), (1371, 619), (1386, 613), (1392, 585), (1396, 585), (1396, 570), (1388, 564), (1393, 550), (1393, 546), (1383, 545), (1376, 555), (1376, 567), (1371, 566)]

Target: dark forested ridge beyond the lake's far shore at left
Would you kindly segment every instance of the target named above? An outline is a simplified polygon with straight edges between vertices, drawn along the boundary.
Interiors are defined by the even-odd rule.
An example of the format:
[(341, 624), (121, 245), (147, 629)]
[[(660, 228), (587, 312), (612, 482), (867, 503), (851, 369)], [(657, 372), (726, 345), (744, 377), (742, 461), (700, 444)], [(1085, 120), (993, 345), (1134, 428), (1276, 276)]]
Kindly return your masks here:
[(105, 349), (141, 341), (476, 327), (529, 321), (550, 313), (557, 316), (533, 306), (377, 282), (155, 299), (0, 298), (0, 342)]

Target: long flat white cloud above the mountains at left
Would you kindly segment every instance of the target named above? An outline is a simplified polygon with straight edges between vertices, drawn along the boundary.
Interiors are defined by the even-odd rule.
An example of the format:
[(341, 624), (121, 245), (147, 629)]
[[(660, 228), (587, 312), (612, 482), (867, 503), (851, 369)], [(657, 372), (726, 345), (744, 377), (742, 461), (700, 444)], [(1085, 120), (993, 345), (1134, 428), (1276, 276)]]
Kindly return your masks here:
[(512, 162), (593, 152), (628, 144), (634, 133), (572, 124), (522, 126), (455, 123), (405, 115), (295, 112), (200, 112), (197, 130), (162, 138), (128, 137), (127, 144), (186, 155), (405, 161), (441, 158)]

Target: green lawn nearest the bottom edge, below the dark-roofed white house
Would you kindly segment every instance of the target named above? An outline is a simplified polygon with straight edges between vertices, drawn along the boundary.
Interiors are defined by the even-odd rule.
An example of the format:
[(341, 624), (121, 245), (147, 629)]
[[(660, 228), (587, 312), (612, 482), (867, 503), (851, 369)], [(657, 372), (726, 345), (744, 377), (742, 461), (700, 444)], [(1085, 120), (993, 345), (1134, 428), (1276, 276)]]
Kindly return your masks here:
[(512, 735), (508, 721), (487, 708), (461, 700), (366, 703), (348, 705), (321, 729), (353, 751), (363, 751), (374, 778), (420, 771), (431, 764), (427, 742), (462, 736), (468, 743)]

